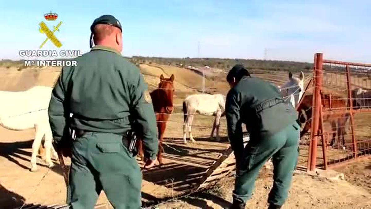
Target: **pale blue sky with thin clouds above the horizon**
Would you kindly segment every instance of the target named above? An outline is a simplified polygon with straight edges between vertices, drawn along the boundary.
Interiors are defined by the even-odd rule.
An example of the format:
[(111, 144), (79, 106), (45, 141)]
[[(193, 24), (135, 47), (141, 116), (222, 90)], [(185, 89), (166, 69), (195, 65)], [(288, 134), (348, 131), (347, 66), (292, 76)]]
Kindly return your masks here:
[[(3, 0), (0, 0), (3, 1)], [(52, 11), (56, 21), (45, 21)], [(371, 63), (371, 1), (152, 0), (4, 1), (0, 59), (20, 59), (45, 39), (38, 24), (63, 21), (60, 49), (89, 51), (90, 25), (112, 14), (123, 27), (124, 56), (326, 59)], [(43, 49), (57, 49), (48, 41)]]

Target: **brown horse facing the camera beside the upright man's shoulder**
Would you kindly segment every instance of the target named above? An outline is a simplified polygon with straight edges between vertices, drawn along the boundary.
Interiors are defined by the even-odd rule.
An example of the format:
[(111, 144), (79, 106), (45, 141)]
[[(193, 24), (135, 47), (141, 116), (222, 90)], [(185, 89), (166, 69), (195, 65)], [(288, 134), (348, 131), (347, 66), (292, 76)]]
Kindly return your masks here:
[[(158, 84), (158, 88), (152, 91), (151, 99), (153, 109), (155, 110), (156, 114), (156, 121), (157, 121), (157, 129), (158, 129), (158, 154), (157, 160), (162, 163), (162, 152), (164, 152), (164, 148), (162, 147), (162, 140), (164, 138), (164, 132), (166, 128), (166, 122), (169, 119), (169, 116), (174, 111), (173, 107), (173, 97), (174, 97), (174, 74), (171, 74), (170, 78), (165, 78), (162, 74), (160, 76), (160, 84)], [(143, 159), (143, 144), (142, 140), (138, 140), (137, 149), (139, 156)]]

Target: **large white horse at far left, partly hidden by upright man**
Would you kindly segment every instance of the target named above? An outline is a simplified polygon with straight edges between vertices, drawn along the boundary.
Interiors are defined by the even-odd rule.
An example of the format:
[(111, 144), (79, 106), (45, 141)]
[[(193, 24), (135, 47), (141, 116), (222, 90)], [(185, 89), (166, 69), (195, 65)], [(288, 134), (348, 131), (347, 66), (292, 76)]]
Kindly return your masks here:
[(36, 157), (43, 137), (47, 165), (53, 166), (51, 152), (58, 157), (52, 146), (53, 136), (49, 125), (48, 107), (51, 96), (52, 88), (45, 86), (35, 86), (23, 92), (0, 91), (0, 125), (10, 130), (35, 128), (31, 156), (32, 172), (37, 170)]

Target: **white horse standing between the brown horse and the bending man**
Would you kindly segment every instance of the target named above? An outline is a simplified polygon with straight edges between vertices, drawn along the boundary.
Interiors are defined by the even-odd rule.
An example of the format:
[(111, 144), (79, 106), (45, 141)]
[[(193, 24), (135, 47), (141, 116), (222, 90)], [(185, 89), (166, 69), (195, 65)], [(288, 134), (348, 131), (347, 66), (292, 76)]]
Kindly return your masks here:
[(215, 116), (213, 130), (211, 130), (210, 137), (214, 137), (214, 130), (216, 129), (216, 139), (219, 138), (220, 117), (225, 112), (225, 97), (222, 94), (193, 94), (185, 98), (183, 102), (183, 140), (186, 140), (186, 131), (188, 130), (191, 142), (196, 142), (192, 136), (192, 121), (195, 113), (206, 116)]

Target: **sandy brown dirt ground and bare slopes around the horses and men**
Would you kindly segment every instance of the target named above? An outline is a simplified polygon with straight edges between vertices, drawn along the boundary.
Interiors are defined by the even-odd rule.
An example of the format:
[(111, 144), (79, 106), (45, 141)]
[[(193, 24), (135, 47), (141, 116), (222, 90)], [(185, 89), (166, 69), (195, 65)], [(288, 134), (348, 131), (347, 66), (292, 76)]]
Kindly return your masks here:
[[(21, 69), (11, 67), (0, 69), (0, 90), (26, 90), (35, 85), (52, 86), (59, 74), (53, 69)], [(159, 76), (175, 75), (175, 112), (167, 123), (165, 132), (165, 165), (155, 167), (143, 173), (142, 198), (144, 205), (151, 205), (162, 198), (169, 198), (182, 193), (187, 185), (192, 186), (205, 170), (215, 162), (228, 143), (224, 137), (222, 143), (209, 139), (212, 117), (195, 116), (193, 135), (197, 143), (182, 142), (182, 120), (180, 104), (185, 96), (196, 93), (201, 76), (172, 66), (141, 66), (142, 73), (150, 89), (155, 89)], [(184, 70), (184, 71), (183, 71)], [(184, 73), (187, 72), (187, 73)], [(287, 80), (287, 72), (264, 72), (255, 74), (277, 85)], [(222, 78), (220, 78), (222, 79)], [(224, 81), (225, 78), (223, 78)], [(210, 91), (226, 93), (228, 86), (222, 80), (207, 81)], [(213, 86), (215, 85), (215, 86)], [(225, 118), (221, 120), (220, 135), (226, 136)], [(12, 131), (0, 127), (0, 208), (12, 208), (23, 203), (41, 203), (51, 205), (65, 201), (66, 190), (63, 176), (57, 162), (48, 169), (43, 160), (38, 159), (39, 170), (30, 172), (31, 146), (33, 130)], [(305, 154), (303, 160), (305, 160)], [(138, 160), (139, 164), (141, 161)], [(68, 162), (67, 162), (68, 164)], [(302, 174), (296, 174), (292, 189), (284, 208), (370, 208), (371, 207), (371, 158), (338, 167), (336, 170), (345, 174), (347, 181), (332, 182)], [(267, 193), (272, 185), (271, 170), (263, 169), (256, 182), (256, 189), (248, 203), (249, 208), (264, 208)], [(220, 179), (215, 188), (193, 196), (170, 201), (158, 208), (226, 208), (231, 202), (233, 175)], [(108, 202), (104, 193), (98, 203)]]

